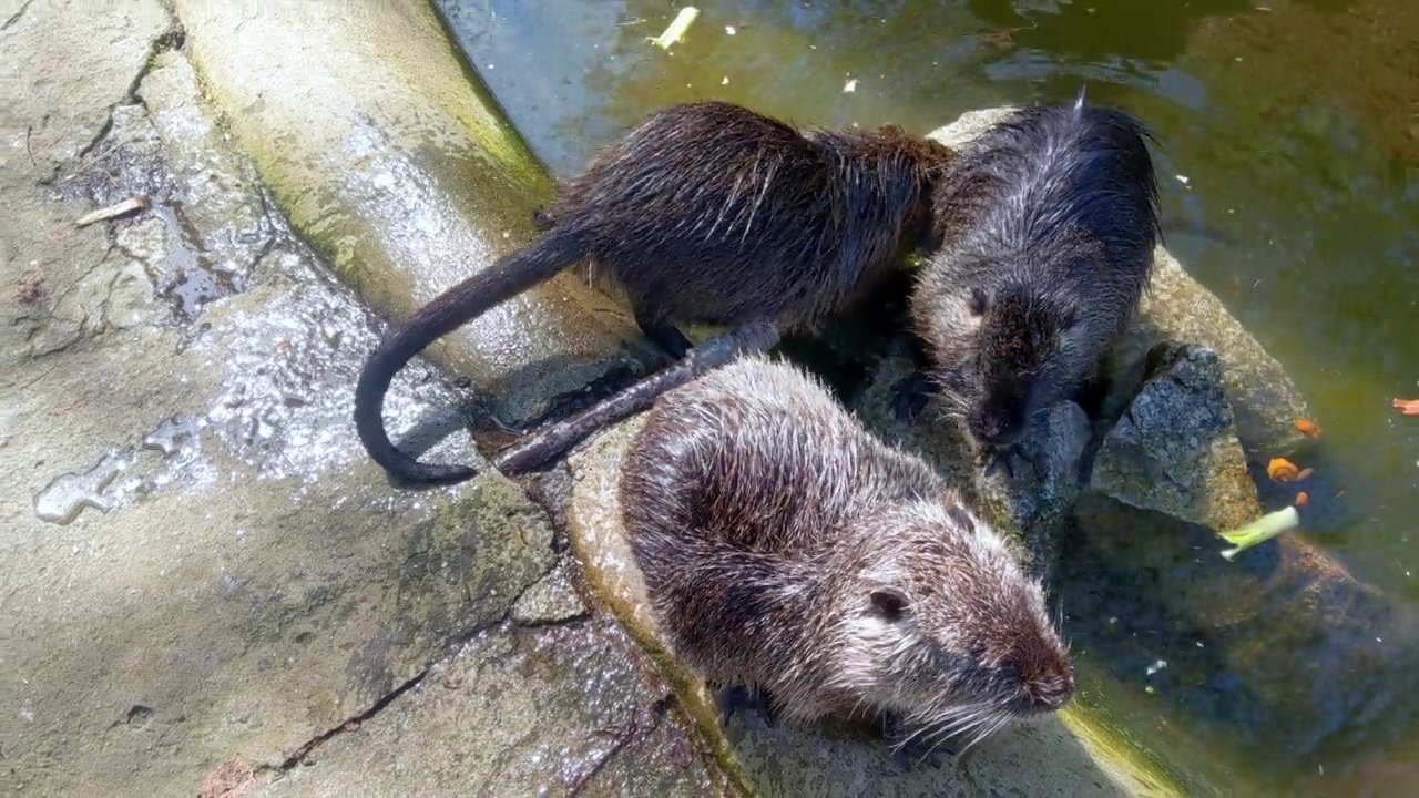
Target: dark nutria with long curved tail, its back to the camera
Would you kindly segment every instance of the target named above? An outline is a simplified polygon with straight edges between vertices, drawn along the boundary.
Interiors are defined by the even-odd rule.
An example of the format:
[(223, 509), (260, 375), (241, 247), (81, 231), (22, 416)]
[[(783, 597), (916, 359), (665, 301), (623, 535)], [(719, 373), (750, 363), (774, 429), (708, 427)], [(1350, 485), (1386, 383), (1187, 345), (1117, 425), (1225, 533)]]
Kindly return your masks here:
[(390, 443), (380, 417), (390, 379), (434, 339), (576, 264), (624, 291), (671, 358), (690, 349), (681, 322), (812, 332), (925, 234), (932, 180), (951, 158), (890, 125), (799, 132), (717, 101), (657, 111), (559, 187), (531, 244), (386, 332), (355, 392), (360, 440), (406, 483), (471, 477)]

